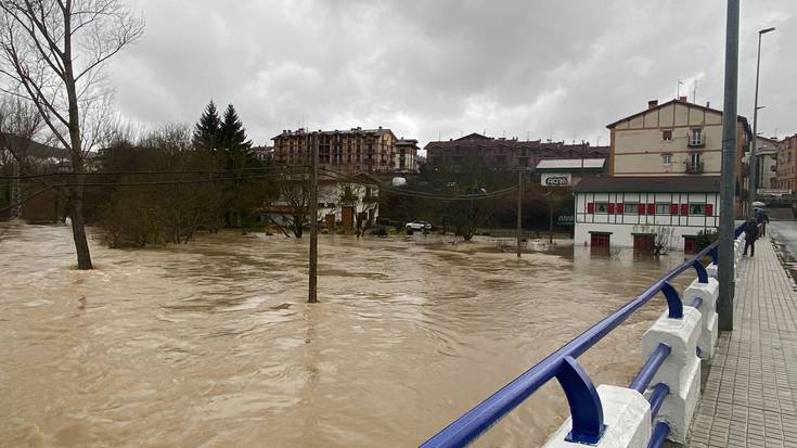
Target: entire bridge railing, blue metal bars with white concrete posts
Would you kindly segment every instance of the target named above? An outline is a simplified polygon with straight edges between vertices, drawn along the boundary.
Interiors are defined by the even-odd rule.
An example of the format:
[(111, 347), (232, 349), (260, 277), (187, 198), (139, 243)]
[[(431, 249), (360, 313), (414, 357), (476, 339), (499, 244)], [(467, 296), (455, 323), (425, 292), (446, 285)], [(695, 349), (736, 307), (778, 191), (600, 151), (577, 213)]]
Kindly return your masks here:
[[(740, 255), (740, 234), (743, 229), (744, 226), (741, 226), (734, 232), (734, 259)], [(700, 358), (710, 360), (717, 341), (716, 300), (719, 283), (709, 276), (709, 271), (717, 271), (717, 247), (718, 242), (715, 242), (669, 271), (642, 294), (549, 355), (421, 447), (453, 448), (468, 445), (552, 379), (558, 381), (565, 393), (570, 419), (549, 439), (547, 446), (596, 445), (604, 438), (607, 427), (620, 433), (613, 433), (612, 437), (635, 439), (638, 443), (642, 437), (647, 447), (659, 447), (668, 437), (683, 443), (696, 404), (694, 397), (699, 396)], [(707, 256), (711, 257), (708, 270), (702, 263)], [(694, 269), (697, 278), (684, 293), (684, 298), (691, 299), (686, 312), (689, 316), (684, 318), (683, 300), (671, 283), (691, 269)], [(643, 354), (648, 355), (646, 362), (628, 388), (602, 385), (596, 389), (576, 359), (659, 293), (667, 302), (667, 312), (643, 337)], [(673, 350), (678, 351), (678, 356), (672, 355)], [(651, 387), (651, 384), (654, 385)], [(670, 407), (667, 406), (669, 396), (674, 397), (673, 406)], [(602, 398), (606, 398), (606, 408), (610, 409), (604, 409)], [(643, 409), (639, 406), (640, 400), (647, 401), (645, 415), (635, 415)], [(667, 408), (666, 419), (657, 419), (663, 408)], [(624, 424), (607, 425), (604, 414), (607, 410), (610, 410), (613, 422), (621, 421)], [(629, 428), (633, 426), (628, 423), (629, 419), (638, 419), (639, 424)], [(613, 430), (613, 425), (617, 427)], [(672, 426), (677, 426), (677, 434), (672, 434)], [(627, 434), (629, 431), (632, 433)]]

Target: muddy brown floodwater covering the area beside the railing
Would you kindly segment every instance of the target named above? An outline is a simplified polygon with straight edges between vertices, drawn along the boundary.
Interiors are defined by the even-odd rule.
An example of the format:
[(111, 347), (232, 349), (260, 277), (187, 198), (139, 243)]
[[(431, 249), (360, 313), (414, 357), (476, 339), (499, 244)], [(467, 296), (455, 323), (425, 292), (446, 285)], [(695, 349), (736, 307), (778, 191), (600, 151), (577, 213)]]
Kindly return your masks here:
[[(201, 235), (93, 244), (3, 225), (0, 446), (412, 447), (683, 259), (490, 253), (433, 238)], [(0, 232), (2, 233), (2, 232)], [(664, 298), (580, 358), (627, 385)], [(544, 386), (476, 446), (540, 445), (567, 414)]]

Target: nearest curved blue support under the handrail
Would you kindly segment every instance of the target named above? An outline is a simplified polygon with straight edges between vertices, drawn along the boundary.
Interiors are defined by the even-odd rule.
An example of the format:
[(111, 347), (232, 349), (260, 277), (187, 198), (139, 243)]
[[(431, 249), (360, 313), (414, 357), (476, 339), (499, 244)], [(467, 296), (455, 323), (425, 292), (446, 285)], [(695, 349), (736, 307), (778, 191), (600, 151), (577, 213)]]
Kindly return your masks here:
[(573, 431), (566, 440), (590, 445), (601, 441), (606, 428), (603, 424), (603, 405), (587, 372), (571, 356), (566, 356), (556, 380), (565, 392), (573, 417)]

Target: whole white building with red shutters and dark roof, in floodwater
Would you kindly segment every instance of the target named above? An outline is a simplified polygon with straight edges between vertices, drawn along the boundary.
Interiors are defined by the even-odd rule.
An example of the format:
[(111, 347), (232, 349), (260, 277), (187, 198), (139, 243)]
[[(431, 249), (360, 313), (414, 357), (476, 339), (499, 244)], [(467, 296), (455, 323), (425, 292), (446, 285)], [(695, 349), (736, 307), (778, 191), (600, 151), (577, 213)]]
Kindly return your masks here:
[(719, 192), (717, 176), (584, 178), (574, 188), (575, 243), (694, 252), (697, 235), (719, 227)]

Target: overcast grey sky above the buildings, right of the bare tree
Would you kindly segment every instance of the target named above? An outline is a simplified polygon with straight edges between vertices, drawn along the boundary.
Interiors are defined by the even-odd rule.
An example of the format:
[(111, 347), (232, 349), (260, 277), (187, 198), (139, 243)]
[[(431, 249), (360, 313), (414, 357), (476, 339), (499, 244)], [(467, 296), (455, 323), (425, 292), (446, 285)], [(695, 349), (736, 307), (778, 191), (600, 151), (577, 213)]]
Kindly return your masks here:
[[(143, 38), (108, 67), (121, 114), (194, 123), (233, 103), (255, 144), (282, 129), (383, 126), (608, 142), (605, 126), (681, 94), (722, 106), (724, 0), (128, 0)], [(740, 114), (797, 132), (797, 4), (742, 1)]]

